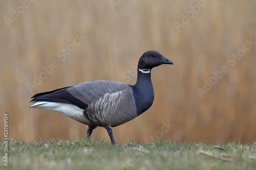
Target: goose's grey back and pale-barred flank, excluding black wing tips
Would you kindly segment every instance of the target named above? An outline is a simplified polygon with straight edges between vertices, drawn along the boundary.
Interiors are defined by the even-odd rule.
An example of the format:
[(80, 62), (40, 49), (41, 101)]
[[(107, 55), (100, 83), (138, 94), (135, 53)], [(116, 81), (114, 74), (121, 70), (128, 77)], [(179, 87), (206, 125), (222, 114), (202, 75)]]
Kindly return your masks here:
[(91, 81), (67, 89), (86, 103), (84, 116), (97, 126), (121, 125), (137, 116), (133, 90), (115, 81)]

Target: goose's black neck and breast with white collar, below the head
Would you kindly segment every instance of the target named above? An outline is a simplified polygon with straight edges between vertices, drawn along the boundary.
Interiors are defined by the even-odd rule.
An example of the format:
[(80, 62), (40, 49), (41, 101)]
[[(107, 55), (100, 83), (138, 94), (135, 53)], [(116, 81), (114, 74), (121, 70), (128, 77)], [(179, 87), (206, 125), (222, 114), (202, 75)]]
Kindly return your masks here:
[(154, 89), (151, 81), (151, 69), (137, 69), (138, 78), (132, 86), (137, 115), (151, 107), (154, 101)]

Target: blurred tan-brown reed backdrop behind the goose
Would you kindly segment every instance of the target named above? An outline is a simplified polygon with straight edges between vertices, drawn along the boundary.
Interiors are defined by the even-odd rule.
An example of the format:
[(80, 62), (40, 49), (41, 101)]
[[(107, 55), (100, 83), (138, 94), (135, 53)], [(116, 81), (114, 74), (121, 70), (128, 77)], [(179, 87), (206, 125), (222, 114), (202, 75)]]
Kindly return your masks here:
[[(86, 125), (28, 108), (31, 96), (91, 80), (134, 84), (139, 57), (156, 50), (174, 65), (153, 69), (154, 104), (113, 129), (118, 142), (252, 142), (256, 44), (245, 39), (256, 41), (255, 8), (249, 0), (1, 1), (1, 127), (8, 112), (10, 138), (86, 137)], [(229, 58), (232, 53), (242, 57)], [(39, 76), (44, 80), (35, 84)], [(205, 81), (214, 85), (201, 98)], [(161, 128), (167, 123), (172, 127), (166, 132)], [(92, 137), (109, 140), (103, 128)]]

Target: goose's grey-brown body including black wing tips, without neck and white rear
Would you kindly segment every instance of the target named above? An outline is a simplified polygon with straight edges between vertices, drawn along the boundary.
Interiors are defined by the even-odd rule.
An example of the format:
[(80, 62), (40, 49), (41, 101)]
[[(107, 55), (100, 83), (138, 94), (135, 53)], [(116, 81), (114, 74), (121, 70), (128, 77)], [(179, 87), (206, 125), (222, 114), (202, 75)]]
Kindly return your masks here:
[[(137, 116), (131, 85), (115, 81), (90, 81), (34, 95), (31, 102), (72, 104), (95, 126), (121, 125)], [(64, 112), (63, 112), (64, 113)], [(81, 121), (79, 121), (81, 122)]]

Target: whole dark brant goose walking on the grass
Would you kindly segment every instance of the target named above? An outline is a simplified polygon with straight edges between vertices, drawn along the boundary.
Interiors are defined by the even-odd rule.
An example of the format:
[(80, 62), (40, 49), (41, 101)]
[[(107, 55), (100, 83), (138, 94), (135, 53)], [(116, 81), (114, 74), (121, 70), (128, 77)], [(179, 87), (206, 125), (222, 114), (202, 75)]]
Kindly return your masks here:
[(135, 85), (115, 81), (89, 81), (32, 96), (31, 108), (61, 112), (88, 125), (87, 136), (104, 127), (112, 144), (117, 144), (112, 127), (122, 125), (151, 107), (154, 89), (151, 69), (161, 64), (173, 64), (157, 51), (145, 52), (139, 59)]

